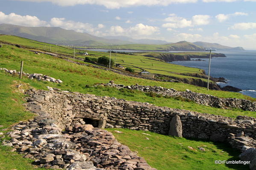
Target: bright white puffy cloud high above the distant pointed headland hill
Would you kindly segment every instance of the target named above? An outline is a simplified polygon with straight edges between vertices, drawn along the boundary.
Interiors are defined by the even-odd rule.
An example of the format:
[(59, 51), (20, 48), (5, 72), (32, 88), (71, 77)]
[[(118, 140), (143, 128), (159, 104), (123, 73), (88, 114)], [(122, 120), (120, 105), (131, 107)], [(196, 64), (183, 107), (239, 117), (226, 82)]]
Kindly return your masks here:
[(207, 25), (209, 24), (209, 15), (194, 15), (191, 20), (187, 20), (183, 17), (178, 17), (176, 14), (170, 14), (169, 16), (165, 18), (165, 21), (168, 23), (165, 23), (162, 25), (162, 27), (165, 28), (185, 28), (185, 27), (193, 27), (193, 26), (199, 26), (199, 25)]

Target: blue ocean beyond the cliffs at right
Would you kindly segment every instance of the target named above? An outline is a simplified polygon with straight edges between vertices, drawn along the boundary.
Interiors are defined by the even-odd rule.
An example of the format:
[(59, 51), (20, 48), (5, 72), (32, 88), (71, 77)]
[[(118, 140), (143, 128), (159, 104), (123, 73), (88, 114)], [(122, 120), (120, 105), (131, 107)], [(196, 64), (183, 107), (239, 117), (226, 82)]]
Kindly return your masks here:
[[(210, 75), (227, 79), (227, 84), (218, 83), (220, 86), (234, 86), (242, 89), (242, 94), (256, 98), (256, 50), (217, 52), (224, 53), (227, 57), (211, 59)], [(174, 61), (172, 63), (204, 69), (208, 75), (209, 59), (202, 60), (205, 61)]]

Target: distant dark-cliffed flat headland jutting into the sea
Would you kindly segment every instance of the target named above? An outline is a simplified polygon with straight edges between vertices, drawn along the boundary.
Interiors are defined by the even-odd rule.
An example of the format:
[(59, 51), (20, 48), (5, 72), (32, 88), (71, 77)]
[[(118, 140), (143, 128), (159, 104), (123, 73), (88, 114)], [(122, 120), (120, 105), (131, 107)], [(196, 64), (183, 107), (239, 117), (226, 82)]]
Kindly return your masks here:
[[(209, 53), (195, 53), (195, 54), (186, 54), (186, 53), (171, 53), (171, 54), (159, 54), (159, 55), (144, 55), (146, 57), (158, 58), (165, 62), (172, 61), (191, 61), (191, 58), (209, 58)], [(212, 53), (212, 57), (227, 57), (222, 53)]]

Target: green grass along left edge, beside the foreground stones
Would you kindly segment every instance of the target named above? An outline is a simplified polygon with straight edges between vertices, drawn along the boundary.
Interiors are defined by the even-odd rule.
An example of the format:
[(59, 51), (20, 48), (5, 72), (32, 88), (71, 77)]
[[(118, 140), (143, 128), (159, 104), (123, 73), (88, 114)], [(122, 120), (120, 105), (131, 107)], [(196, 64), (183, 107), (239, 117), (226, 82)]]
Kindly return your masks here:
[[(11, 76), (0, 75), (0, 130), (9, 127), (18, 121), (24, 121), (32, 118), (33, 114), (26, 112), (22, 103), (24, 101), (22, 95), (16, 92), (16, 87), (20, 83), (18, 78)], [(0, 131), (3, 132), (3, 131)], [(1, 135), (0, 135), (1, 137)], [(0, 141), (1, 143), (1, 141)], [(18, 153), (10, 152), (10, 147), (5, 147), (0, 144), (0, 170), (34, 170), (32, 160), (22, 158)], [(38, 170), (45, 170), (39, 168)]]

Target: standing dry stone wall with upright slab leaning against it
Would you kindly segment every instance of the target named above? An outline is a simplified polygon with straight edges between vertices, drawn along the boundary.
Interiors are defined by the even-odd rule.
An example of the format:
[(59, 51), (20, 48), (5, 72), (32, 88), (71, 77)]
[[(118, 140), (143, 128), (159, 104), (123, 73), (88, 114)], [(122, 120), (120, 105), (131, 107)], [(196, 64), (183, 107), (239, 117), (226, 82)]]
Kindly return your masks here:
[(256, 145), (256, 119), (238, 116), (236, 119), (220, 115), (191, 112), (182, 109), (157, 107), (148, 103), (98, 97), (62, 91), (31, 93), (28, 108), (41, 109), (57, 120), (59, 127), (74, 123), (94, 122), (98, 127), (129, 128), (169, 134), (171, 119), (177, 115), (182, 122), (182, 136), (212, 141), (227, 141), (242, 150)]

